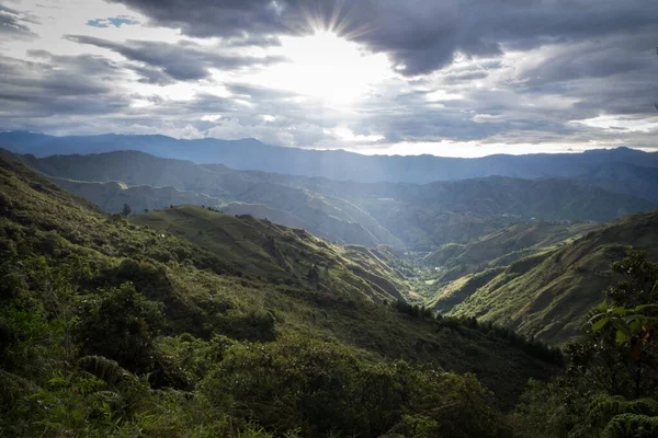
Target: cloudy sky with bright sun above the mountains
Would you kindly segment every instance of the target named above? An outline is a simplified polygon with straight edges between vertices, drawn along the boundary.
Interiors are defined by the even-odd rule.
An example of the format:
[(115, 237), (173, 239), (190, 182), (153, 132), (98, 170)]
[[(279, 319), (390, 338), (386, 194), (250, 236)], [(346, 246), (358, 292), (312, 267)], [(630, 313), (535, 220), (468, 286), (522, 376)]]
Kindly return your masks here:
[(658, 150), (654, 0), (4, 0), (0, 130)]

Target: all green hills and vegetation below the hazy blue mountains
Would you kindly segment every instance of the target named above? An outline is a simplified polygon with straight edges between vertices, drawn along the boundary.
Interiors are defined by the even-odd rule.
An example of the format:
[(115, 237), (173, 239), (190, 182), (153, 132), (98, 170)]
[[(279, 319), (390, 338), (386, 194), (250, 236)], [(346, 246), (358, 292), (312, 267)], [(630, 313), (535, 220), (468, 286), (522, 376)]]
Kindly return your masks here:
[(5, 159), (0, 187), (2, 437), (658, 433), (658, 214), (445, 246), (494, 258), (426, 307), (429, 268), (393, 247), (194, 205), (107, 216)]

